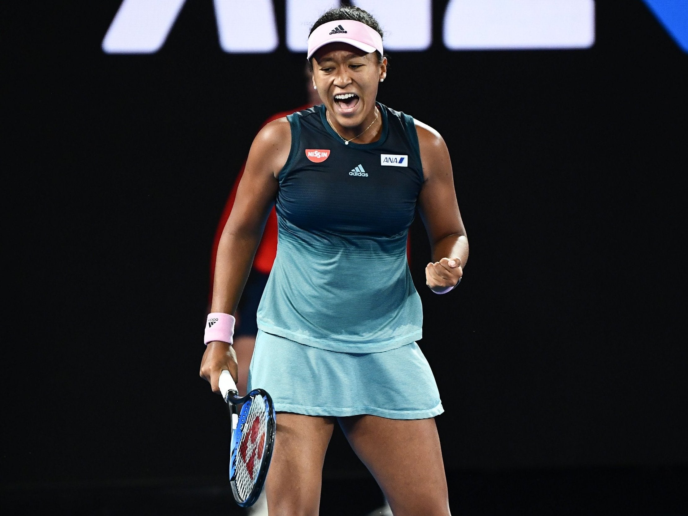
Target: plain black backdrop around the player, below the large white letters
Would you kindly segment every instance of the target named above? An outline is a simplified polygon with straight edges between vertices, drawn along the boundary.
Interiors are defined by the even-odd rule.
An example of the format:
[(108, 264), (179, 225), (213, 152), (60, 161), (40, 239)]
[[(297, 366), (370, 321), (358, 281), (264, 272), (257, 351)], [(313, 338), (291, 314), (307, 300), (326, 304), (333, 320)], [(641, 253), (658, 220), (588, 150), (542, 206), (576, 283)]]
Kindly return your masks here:
[[(303, 56), (280, 1), (273, 54), (222, 52), (210, 1), (157, 54), (104, 54), (119, 4), (3, 15), (3, 499), (230, 511), (226, 410), (198, 377), (210, 250), (261, 122), (306, 100)], [(471, 242), (436, 297), (412, 228), (452, 507), (686, 514), (688, 54), (641, 1), (596, 2), (589, 50), (449, 52), (445, 5), (378, 99), (444, 136)], [(376, 505), (336, 434), (323, 500), (346, 482)]]

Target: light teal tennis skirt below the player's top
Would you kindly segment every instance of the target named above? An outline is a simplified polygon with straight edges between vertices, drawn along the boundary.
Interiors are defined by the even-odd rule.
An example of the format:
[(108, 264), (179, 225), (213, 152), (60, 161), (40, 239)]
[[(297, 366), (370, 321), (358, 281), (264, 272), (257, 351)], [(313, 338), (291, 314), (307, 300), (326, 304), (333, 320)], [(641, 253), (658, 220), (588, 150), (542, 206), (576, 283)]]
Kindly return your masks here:
[(424, 419), (442, 413), (435, 377), (415, 342), (343, 353), (258, 331), (248, 389), (265, 389), (278, 412)]

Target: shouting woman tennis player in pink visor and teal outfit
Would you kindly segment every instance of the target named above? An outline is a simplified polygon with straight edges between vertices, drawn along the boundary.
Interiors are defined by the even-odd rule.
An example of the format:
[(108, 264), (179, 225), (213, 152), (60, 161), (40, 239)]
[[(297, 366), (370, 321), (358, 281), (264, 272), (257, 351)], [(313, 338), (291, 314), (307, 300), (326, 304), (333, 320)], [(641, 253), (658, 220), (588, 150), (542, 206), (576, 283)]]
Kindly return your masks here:
[(461, 280), (468, 241), (447, 145), (376, 102), (387, 77), (382, 31), (354, 7), (327, 11), (308, 39), (322, 105), (256, 136), (215, 266), (202, 377), (237, 376), (233, 314), (275, 204), (275, 264), (258, 309), (248, 389), (275, 400), (270, 516), (316, 515), (334, 424), (400, 515), (449, 515), (434, 417), (442, 403), (415, 341), (422, 307), (407, 265), (416, 208), (431, 242), (427, 286)]

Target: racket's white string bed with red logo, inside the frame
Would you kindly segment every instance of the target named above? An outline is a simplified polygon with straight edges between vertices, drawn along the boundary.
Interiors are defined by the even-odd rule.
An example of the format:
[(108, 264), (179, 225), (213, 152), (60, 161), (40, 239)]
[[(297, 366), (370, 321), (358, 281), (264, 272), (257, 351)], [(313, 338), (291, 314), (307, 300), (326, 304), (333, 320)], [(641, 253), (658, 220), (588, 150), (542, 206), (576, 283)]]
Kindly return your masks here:
[(246, 422), (242, 425), (241, 440), (235, 455), (235, 482), (242, 499), (248, 498), (257, 480), (266, 433), (266, 402), (263, 396), (255, 396), (251, 400)]

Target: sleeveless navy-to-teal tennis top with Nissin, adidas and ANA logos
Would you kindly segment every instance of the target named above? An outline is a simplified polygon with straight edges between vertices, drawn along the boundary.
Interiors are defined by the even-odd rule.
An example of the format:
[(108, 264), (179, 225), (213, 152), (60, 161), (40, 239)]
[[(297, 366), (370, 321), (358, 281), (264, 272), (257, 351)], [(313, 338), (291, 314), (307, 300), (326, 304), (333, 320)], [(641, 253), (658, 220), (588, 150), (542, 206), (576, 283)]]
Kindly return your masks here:
[(422, 338), (406, 244), (423, 182), (413, 118), (378, 103), (380, 139), (344, 144), (322, 105), (288, 120), (275, 200), (277, 257), (257, 314), (266, 333), (338, 352)]

